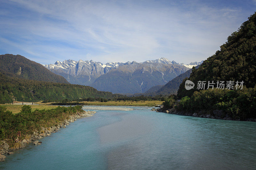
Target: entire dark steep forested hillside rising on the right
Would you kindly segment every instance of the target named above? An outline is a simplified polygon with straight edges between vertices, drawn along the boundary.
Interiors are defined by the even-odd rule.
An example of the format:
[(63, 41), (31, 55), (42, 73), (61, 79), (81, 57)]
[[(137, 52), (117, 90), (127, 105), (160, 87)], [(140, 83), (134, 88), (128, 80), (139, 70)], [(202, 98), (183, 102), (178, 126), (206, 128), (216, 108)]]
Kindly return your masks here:
[[(233, 120), (256, 118), (256, 13), (227, 40), (219, 51), (183, 80), (178, 91), (181, 101), (175, 107), (177, 110), (196, 112), (198, 116), (212, 114), (215, 110), (212, 116), (221, 118), (228, 115)], [(191, 90), (184, 88), (187, 79), (195, 83)], [(203, 90), (199, 90), (198, 81), (214, 81), (215, 88), (206, 89), (205, 85)], [(216, 88), (217, 81), (244, 81), (244, 86), (236, 89), (235, 83), (234, 88)], [(169, 101), (172, 100), (166, 103), (172, 106)]]

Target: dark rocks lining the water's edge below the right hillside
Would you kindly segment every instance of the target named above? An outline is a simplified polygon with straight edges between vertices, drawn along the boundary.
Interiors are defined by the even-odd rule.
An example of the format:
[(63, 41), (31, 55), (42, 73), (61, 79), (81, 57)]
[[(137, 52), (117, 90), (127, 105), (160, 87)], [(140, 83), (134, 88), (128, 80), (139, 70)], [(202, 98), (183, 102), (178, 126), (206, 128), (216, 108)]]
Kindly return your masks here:
[(249, 118), (245, 120), (240, 119), (233, 119), (228, 116), (228, 114), (224, 114), (222, 110), (213, 110), (212, 114), (203, 114), (202, 112), (199, 113), (191, 113), (191, 112), (185, 112), (185, 111), (177, 111), (174, 108), (172, 109), (164, 109), (164, 106), (160, 106), (160, 108), (152, 108), (152, 111), (156, 112), (163, 112), (168, 114), (175, 114), (175, 115), (186, 115), (186, 116), (193, 116), (193, 117), (201, 117), (201, 118), (210, 118), (210, 119), (221, 119), (221, 120), (235, 120), (235, 121), (250, 121), (250, 122), (256, 122), (256, 119)]

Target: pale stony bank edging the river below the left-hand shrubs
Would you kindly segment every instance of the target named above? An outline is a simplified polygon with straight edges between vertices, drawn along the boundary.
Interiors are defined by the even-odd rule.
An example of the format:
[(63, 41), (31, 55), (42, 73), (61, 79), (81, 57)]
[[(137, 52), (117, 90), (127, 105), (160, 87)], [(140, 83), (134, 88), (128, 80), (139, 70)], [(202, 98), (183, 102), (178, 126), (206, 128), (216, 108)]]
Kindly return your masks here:
[(66, 128), (67, 125), (69, 125), (71, 122), (75, 122), (77, 118), (82, 117), (90, 117), (95, 114), (95, 111), (84, 111), (84, 112), (76, 112), (74, 115), (71, 115), (69, 119), (60, 122), (57, 126), (51, 126), (51, 127), (41, 127), (41, 129), (33, 131), (33, 135), (30, 135), (23, 139), (22, 141), (17, 138), (16, 142), (19, 143), (19, 147), (15, 149), (10, 149), (9, 144), (2, 140), (0, 141), (0, 162), (3, 162), (6, 158), (3, 154), (14, 154), (13, 150), (19, 150), (26, 146), (26, 144), (33, 143), (34, 145), (40, 145), (42, 142), (39, 142), (38, 139), (42, 137), (46, 137), (51, 135), (51, 133), (56, 133), (60, 130), (60, 128)]

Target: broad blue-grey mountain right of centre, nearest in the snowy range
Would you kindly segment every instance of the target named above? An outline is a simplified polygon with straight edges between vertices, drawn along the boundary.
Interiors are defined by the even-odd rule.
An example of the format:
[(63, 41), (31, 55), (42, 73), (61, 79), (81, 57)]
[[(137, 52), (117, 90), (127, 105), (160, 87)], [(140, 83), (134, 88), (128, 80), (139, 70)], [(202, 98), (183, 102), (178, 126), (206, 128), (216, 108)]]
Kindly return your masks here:
[(187, 70), (189, 68), (166, 58), (143, 63), (124, 63), (101, 75), (92, 86), (113, 93), (146, 92), (152, 86), (164, 85)]

